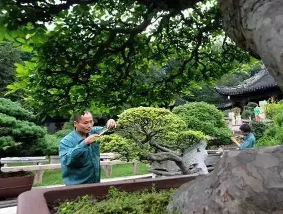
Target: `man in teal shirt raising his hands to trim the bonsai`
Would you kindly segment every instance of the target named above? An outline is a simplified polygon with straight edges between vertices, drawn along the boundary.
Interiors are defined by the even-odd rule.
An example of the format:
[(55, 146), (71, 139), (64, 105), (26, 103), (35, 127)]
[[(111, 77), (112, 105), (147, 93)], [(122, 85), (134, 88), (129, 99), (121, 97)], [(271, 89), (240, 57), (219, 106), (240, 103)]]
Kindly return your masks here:
[[(74, 115), (74, 130), (59, 144), (59, 158), (65, 185), (92, 184), (100, 182), (99, 132), (103, 127), (93, 127), (89, 112)], [(114, 129), (115, 121), (106, 123), (107, 129)]]

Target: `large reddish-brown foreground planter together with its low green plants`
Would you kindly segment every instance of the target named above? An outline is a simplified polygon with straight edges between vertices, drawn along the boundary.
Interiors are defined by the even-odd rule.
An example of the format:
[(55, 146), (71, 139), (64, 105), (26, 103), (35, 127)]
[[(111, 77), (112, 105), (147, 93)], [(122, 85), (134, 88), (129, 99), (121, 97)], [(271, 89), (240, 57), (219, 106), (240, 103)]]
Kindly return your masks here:
[[(197, 176), (195, 175), (183, 175), (156, 179), (115, 181), (101, 184), (75, 185), (32, 190), (19, 195), (17, 199), (17, 214), (122, 214), (129, 213), (129, 211), (132, 211), (133, 209), (145, 210), (146, 212), (144, 213), (151, 213), (148, 210), (153, 207), (151, 203), (154, 203), (155, 207), (163, 208), (163, 210), (165, 210), (166, 205), (170, 200), (170, 196), (173, 193), (172, 188), (178, 188), (182, 184), (194, 180), (196, 177)], [(152, 186), (157, 191), (157, 193), (159, 190), (163, 190), (163, 193), (166, 190), (169, 190), (169, 193), (166, 194), (165, 192), (165, 194), (163, 195), (147, 195), (145, 196), (146, 198), (139, 198), (139, 196), (135, 194), (137, 197), (135, 197), (136, 200), (134, 202), (136, 202), (137, 204), (134, 204), (134, 202), (132, 202), (132, 199), (129, 198), (128, 194), (123, 194), (120, 199), (117, 199), (114, 202), (112, 200), (112, 203), (109, 203), (109, 200), (107, 200), (109, 190), (111, 190), (111, 188), (113, 187), (123, 192), (137, 192), (140, 190), (150, 190)], [(75, 206), (75, 204), (78, 202), (78, 197), (80, 198), (79, 200), (81, 202), (80, 205), (78, 205), (80, 208), (75, 209), (75, 207), (72, 207), (71, 205)], [(164, 199), (164, 197), (166, 198)], [(97, 202), (103, 199), (106, 199), (104, 201), (105, 206), (98, 212), (94, 212), (92, 207), (97, 205)], [(66, 202), (66, 200), (69, 202), (65, 203), (65, 205), (70, 206), (62, 206), (62, 203)], [(110, 207), (111, 204), (115, 207)], [(58, 211), (58, 209), (60, 210), (60, 212), (56, 212), (56, 210)], [(159, 214), (161, 212), (158, 213), (158, 211), (156, 212), (156, 210), (153, 210), (153, 213)]]

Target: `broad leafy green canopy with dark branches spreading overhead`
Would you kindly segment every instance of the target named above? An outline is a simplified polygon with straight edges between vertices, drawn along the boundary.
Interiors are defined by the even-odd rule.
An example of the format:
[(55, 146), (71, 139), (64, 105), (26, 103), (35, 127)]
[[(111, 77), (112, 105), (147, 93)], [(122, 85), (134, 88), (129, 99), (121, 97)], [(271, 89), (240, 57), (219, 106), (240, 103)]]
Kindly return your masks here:
[[(150, 1), (72, 3), (69, 10), (62, 4), (46, 9), (47, 1), (40, 8), (38, 1), (3, 3), (5, 28), (54, 21), (55, 28), (46, 33), (30, 23), (20, 28), (23, 34), (17, 31), (17, 37), (28, 39), (15, 42), (32, 46), (37, 58), (9, 87), (27, 89), (26, 100), (49, 114), (68, 115), (81, 105), (105, 114), (139, 105), (168, 106), (176, 94), (189, 94), (195, 82), (218, 78), (249, 60), (224, 36), (215, 2), (191, 10)], [(39, 11), (43, 15), (37, 16)], [(4, 37), (12, 39), (8, 32)]]

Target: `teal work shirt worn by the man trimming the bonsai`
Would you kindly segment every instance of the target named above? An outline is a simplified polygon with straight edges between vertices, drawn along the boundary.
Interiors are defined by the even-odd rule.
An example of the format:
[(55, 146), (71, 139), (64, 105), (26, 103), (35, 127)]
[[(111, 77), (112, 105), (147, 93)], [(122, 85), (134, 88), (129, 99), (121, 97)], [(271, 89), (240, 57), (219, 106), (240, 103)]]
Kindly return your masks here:
[[(93, 127), (90, 134), (97, 134), (102, 128)], [(100, 182), (99, 142), (87, 145), (73, 130), (60, 141), (59, 158), (65, 185)]]

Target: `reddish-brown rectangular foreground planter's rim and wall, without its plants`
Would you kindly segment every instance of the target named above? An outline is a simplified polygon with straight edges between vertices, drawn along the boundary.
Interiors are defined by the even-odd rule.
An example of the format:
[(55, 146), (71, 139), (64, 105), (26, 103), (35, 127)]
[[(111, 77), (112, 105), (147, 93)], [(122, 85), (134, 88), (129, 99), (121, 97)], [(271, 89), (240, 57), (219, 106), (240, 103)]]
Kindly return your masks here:
[(84, 195), (107, 195), (110, 187), (116, 187), (125, 192), (150, 188), (152, 185), (157, 189), (169, 189), (178, 188), (195, 178), (195, 175), (184, 175), (31, 190), (19, 195), (17, 214), (50, 214), (47, 203), (57, 199), (72, 199)]

